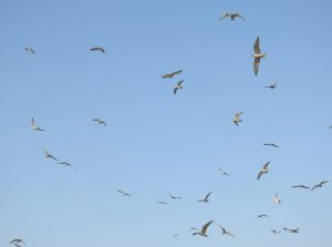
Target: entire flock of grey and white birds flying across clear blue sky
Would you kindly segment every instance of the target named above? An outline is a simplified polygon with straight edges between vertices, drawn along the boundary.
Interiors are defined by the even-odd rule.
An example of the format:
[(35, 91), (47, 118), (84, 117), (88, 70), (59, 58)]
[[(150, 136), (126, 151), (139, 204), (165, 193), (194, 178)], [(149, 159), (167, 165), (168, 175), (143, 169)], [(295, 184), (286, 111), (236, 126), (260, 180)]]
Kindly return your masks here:
[[(231, 13), (231, 12), (226, 12), (221, 16), (220, 20), (224, 20), (226, 18), (229, 18), (231, 21), (235, 21), (237, 18), (240, 18), (241, 20), (246, 20), (240, 13)], [(32, 49), (32, 48), (25, 48), (25, 51), (28, 53), (31, 53), (31, 54), (34, 54), (35, 51)], [(97, 52), (102, 52), (102, 53), (105, 53), (105, 49), (102, 48), (102, 47), (94, 47), (94, 48), (91, 48), (90, 51), (97, 51)], [(255, 43), (253, 43), (253, 54), (251, 54), (251, 56), (253, 58), (253, 73), (255, 75), (257, 76), (258, 75), (258, 72), (259, 72), (259, 64), (260, 64), (260, 61), (261, 59), (266, 58), (266, 53), (262, 53), (261, 50), (260, 50), (260, 39), (259, 37), (256, 38), (255, 40)], [(177, 71), (174, 71), (174, 72), (170, 72), (170, 73), (166, 73), (164, 75), (162, 75), (163, 79), (174, 79), (175, 76), (179, 75), (183, 73), (183, 70), (177, 70)], [(174, 86), (174, 90), (173, 90), (173, 93), (174, 95), (177, 94), (177, 92), (179, 90), (183, 90), (183, 83), (184, 83), (184, 80), (180, 80), (178, 81), (175, 86)], [(277, 81), (270, 85), (266, 85), (264, 88), (268, 88), (268, 89), (276, 89), (277, 88)], [(241, 116), (242, 116), (243, 112), (237, 112), (235, 115), (234, 115), (234, 119), (232, 119), (232, 122), (234, 124), (236, 124), (237, 126), (239, 126), (239, 124), (242, 122), (241, 120)], [(93, 119), (92, 120), (93, 122), (95, 122), (96, 124), (98, 125), (103, 125), (104, 127), (106, 127), (106, 122), (104, 120), (101, 120), (101, 119)], [(31, 119), (31, 127), (33, 131), (35, 132), (44, 132), (45, 130), (42, 128), (41, 126), (39, 126), (34, 120), (34, 117)], [(328, 126), (328, 128), (332, 128), (332, 125), (331, 126)], [(279, 145), (274, 144), (274, 143), (264, 143), (263, 145), (266, 146), (270, 146), (270, 147), (276, 147), (278, 148)], [(65, 161), (60, 161), (59, 158), (56, 158), (55, 156), (53, 156), (49, 151), (46, 151), (45, 148), (43, 148), (43, 152), (44, 152), (44, 155), (46, 158), (49, 159), (52, 159), (54, 162), (56, 162), (56, 164), (60, 164), (60, 165), (63, 165), (65, 167), (71, 167), (73, 169), (76, 169), (75, 166), (73, 166), (71, 163), (69, 162), (65, 162)], [(261, 179), (262, 176), (267, 175), (269, 173), (269, 166), (270, 166), (270, 162), (266, 162), (261, 169), (258, 172), (258, 175), (257, 175), (257, 179)], [(222, 176), (230, 176), (229, 173), (225, 172), (224, 169), (221, 169), (220, 167), (218, 167), (218, 171), (219, 173), (222, 175)], [(320, 182), (319, 184), (315, 184), (313, 186), (307, 186), (307, 185), (293, 185), (291, 186), (292, 188), (300, 188), (300, 189), (310, 189), (310, 191), (314, 191), (317, 188), (321, 188), (323, 185), (325, 185), (329, 181), (322, 181)], [(128, 192), (125, 192), (125, 191), (122, 191), (122, 189), (117, 189), (117, 192), (120, 194), (122, 194), (123, 196), (125, 197), (131, 197), (132, 194), (129, 194)], [(170, 199), (181, 199), (181, 196), (175, 196), (173, 194), (168, 194)], [(209, 197), (211, 195), (211, 191), (208, 192), (201, 199), (198, 199), (197, 202), (199, 203), (209, 203)], [(167, 202), (165, 200), (159, 200), (157, 202), (157, 204), (168, 204)], [(280, 199), (280, 196), (278, 193), (274, 194), (274, 204), (281, 204), (281, 199)], [(263, 218), (263, 217), (269, 217), (268, 215), (266, 214), (260, 214), (257, 216), (257, 218)], [(209, 226), (214, 223), (214, 219), (212, 220), (209, 220), (207, 223), (205, 223), (200, 228), (196, 228), (196, 227), (191, 227), (189, 231), (194, 230), (193, 233), (193, 236), (203, 236), (203, 237), (208, 237), (208, 228)], [(230, 236), (230, 237), (234, 237), (235, 235), (227, 230), (224, 226), (221, 225), (218, 225), (219, 228), (220, 228), (220, 233), (222, 235), (227, 235), (227, 236)], [(277, 229), (270, 229), (272, 234), (277, 235), (277, 234), (280, 234), (281, 230), (277, 230)], [(297, 228), (288, 228), (288, 227), (283, 227), (283, 230), (284, 231), (288, 231), (288, 233), (291, 233), (291, 234), (298, 234), (300, 233), (300, 228), (297, 227)], [(177, 234), (175, 234), (174, 236), (177, 236)], [(13, 240), (10, 241), (11, 245), (14, 245), (15, 247), (21, 247), (21, 244), (25, 244), (24, 240), (20, 239), (20, 238), (15, 238)]]

